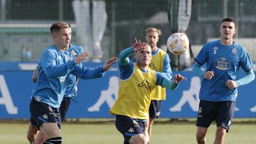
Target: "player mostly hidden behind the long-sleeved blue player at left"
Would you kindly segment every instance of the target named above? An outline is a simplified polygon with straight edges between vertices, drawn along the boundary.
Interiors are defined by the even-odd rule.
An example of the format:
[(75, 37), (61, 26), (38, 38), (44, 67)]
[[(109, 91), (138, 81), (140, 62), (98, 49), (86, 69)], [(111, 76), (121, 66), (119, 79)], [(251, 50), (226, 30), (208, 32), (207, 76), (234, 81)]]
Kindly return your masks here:
[[(73, 57), (78, 57), (80, 53), (82, 53), (84, 50), (81, 46), (78, 45), (70, 45), (68, 50)], [(37, 67), (33, 72), (32, 80), (33, 82), (37, 81)], [(71, 99), (75, 96), (77, 96), (78, 92), (78, 77), (75, 77), (73, 74), (69, 75), (69, 80), (68, 80), (68, 85), (65, 90), (65, 94), (63, 97), (63, 101), (61, 101), (60, 104), (60, 120), (61, 123), (65, 120), (66, 113), (68, 112), (68, 108), (70, 106)], [(27, 133), (27, 138), (28, 141), (31, 143), (36, 143), (36, 144), (43, 144), (46, 141), (46, 136), (43, 135), (42, 132), (38, 132), (38, 128), (36, 127), (28, 127), (28, 133)]]

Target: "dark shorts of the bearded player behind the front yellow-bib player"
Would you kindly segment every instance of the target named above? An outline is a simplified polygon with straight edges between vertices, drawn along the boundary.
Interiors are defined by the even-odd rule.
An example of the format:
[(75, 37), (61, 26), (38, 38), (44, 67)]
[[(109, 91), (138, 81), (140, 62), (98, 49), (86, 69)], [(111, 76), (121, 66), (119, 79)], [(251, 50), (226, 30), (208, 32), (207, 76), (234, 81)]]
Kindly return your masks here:
[(161, 113), (161, 101), (151, 100), (149, 106), (149, 117), (150, 118), (159, 118)]

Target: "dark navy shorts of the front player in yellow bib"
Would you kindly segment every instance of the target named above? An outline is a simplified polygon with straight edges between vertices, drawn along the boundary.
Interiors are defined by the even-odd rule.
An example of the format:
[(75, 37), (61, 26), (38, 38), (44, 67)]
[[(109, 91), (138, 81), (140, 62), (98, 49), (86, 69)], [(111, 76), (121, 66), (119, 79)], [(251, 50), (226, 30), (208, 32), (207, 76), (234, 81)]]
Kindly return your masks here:
[(128, 143), (133, 135), (144, 134), (146, 120), (135, 119), (129, 116), (117, 115), (115, 126), (124, 136), (124, 143)]

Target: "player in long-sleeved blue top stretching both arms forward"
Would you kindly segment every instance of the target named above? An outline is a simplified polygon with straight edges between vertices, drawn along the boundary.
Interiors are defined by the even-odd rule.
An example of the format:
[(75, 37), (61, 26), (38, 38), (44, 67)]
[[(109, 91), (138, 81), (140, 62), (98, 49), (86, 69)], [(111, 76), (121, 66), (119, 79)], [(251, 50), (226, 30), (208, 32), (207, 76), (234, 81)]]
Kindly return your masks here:
[(74, 74), (82, 79), (102, 77), (115, 62), (107, 60), (103, 66), (91, 69), (82, 65), (88, 52), (73, 57), (70, 46), (71, 26), (68, 23), (53, 23), (50, 27), (53, 45), (43, 52), (38, 62), (38, 78), (30, 103), (30, 126), (36, 126), (44, 135), (46, 143), (62, 143), (60, 135), (60, 102), (63, 100), (68, 77)]

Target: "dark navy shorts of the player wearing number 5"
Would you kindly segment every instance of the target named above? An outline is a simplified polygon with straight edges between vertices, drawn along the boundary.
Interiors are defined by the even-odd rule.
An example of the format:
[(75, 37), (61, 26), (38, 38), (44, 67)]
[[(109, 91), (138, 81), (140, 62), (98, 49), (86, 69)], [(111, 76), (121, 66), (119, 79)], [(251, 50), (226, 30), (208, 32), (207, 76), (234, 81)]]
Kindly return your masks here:
[(235, 112), (235, 101), (200, 101), (196, 126), (208, 128), (212, 121), (217, 127), (230, 129), (231, 120)]

